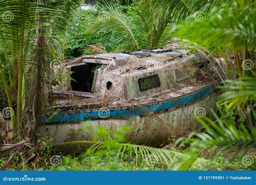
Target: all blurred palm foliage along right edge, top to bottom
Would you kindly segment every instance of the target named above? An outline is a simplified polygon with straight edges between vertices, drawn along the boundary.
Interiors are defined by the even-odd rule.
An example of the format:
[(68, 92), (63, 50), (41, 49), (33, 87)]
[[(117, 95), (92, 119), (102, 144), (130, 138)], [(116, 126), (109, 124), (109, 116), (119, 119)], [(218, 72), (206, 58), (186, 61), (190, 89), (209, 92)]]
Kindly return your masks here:
[[(213, 146), (225, 150), (237, 147), (238, 153), (244, 151), (244, 154), (255, 147), (255, 4), (252, 1), (236, 1), (203, 10), (180, 22), (173, 35), (185, 39), (186, 44), (189, 40), (190, 44), (196, 43), (199, 49), (206, 48), (214, 56), (221, 54), (230, 68), (232, 63), (229, 58), (233, 54), (240, 78), (227, 80), (221, 87), (225, 92), (219, 99), (222, 106), (217, 105), (219, 115), (212, 112), (216, 121), (197, 119), (205, 131), (192, 133), (181, 142), (181, 147), (190, 144), (186, 152), (190, 157), (186, 162), (178, 161), (175, 169), (189, 168), (189, 162), (192, 164), (201, 153)], [(178, 43), (184, 42), (179, 40)], [(243, 60), (242, 64), (240, 60)]]

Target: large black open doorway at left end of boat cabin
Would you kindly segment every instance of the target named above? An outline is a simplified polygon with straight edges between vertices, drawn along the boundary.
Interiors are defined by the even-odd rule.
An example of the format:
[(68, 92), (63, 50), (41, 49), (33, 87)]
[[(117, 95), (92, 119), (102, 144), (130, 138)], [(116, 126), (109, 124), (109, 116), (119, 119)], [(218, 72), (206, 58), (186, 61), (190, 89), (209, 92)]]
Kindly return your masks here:
[(91, 92), (95, 69), (102, 64), (86, 63), (71, 67), (71, 87), (73, 91)]

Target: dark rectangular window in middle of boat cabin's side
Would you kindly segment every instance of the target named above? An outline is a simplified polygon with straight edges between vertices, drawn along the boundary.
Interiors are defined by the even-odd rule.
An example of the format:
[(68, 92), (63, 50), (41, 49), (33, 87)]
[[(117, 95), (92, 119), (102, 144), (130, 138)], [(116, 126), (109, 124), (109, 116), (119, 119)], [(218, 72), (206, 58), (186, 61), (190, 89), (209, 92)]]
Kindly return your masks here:
[(139, 78), (138, 85), (140, 92), (161, 86), (158, 74), (154, 74), (152, 76), (144, 78)]

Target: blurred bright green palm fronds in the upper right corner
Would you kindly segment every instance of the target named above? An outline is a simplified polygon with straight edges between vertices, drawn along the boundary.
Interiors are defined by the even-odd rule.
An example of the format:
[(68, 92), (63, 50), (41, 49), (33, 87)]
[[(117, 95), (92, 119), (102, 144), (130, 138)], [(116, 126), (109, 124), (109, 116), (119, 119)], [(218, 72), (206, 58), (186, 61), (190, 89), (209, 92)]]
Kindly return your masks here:
[[(255, 56), (256, 30), (253, 21), (256, 14), (254, 12), (255, 3), (252, 1), (222, 3), (220, 6), (213, 6), (209, 11), (202, 9), (194, 13), (179, 24), (173, 34), (178, 38), (197, 43), (215, 55), (220, 53), (230, 68), (232, 64), (228, 60), (228, 54), (233, 53), (239, 77), (242, 77), (245, 64), (243, 63), (242, 66), (240, 60), (245, 62), (250, 60), (249, 65), (253, 66)], [(239, 56), (240, 54), (242, 57)]]

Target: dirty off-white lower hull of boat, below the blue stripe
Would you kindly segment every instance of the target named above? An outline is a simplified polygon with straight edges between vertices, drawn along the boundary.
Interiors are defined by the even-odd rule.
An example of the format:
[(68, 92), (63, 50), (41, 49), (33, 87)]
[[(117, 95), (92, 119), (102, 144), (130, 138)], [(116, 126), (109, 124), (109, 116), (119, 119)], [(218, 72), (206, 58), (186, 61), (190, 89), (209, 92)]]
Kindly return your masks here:
[[(194, 119), (195, 110), (199, 107), (203, 108), (206, 117), (211, 118), (211, 109), (215, 110), (215, 103), (216, 95), (213, 93), (185, 106), (172, 107), (164, 112), (154, 114), (151, 112), (143, 117), (92, 120), (77, 123), (62, 122), (61, 124), (43, 125), (39, 132), (42, 138), (52, 138), (53, 145), (57, 145), (72, 141), (91, 141), (99, 126), (106, 128), (110, 133), (124, 126), (130, 126), (131, 131), (125, 136), (127, 141), (138, 145), (157, 147), (170, 142), (170, 139), (199, 129), (201, 125)], [(76, 150), (80, 146), (71, 147)]]

